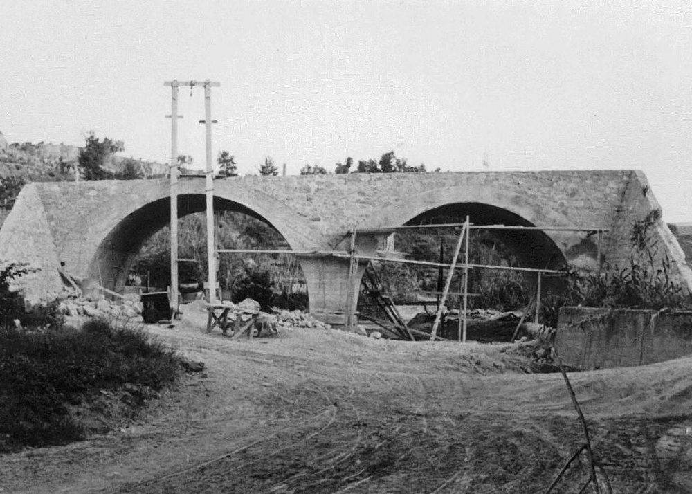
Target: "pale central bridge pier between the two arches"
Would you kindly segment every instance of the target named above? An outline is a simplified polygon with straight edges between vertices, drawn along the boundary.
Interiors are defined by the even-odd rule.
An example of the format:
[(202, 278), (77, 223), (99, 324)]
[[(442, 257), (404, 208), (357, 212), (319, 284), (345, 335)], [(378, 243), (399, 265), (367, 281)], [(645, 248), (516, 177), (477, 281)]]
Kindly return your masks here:
[[(358, 271), (353, 280), (356, 297), (353, 299), (352, 311), (358, 305), (358, 288), (366, 265), (365, 262), (358, 263)], [(307, 283), (311, 315), (329, 324), (344, 324), (349, 288), (349, 259), (331, 256), (300, 257), (300, 266)]]

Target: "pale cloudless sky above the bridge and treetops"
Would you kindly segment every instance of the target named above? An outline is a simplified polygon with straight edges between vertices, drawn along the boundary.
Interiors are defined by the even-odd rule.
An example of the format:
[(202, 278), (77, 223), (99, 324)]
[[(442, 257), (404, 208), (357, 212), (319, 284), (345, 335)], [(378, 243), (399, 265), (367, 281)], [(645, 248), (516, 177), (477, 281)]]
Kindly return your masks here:
[[(692, 6), (650, 1), (0, 0), (10, 143), (170, 161), (206, 79), (240, 174), (394, 151), (428, 170), (642, 170), (692, 221)], [(179, 153), (205, 165), (203, 89)], [(585, 191), (588, 193), (588, 191)]]

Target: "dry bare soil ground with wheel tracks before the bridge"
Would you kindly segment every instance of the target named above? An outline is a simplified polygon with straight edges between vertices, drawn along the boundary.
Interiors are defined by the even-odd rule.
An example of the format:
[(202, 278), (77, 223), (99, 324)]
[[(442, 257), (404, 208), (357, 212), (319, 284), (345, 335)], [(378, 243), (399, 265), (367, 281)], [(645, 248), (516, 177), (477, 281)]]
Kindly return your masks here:
[[(0, 492), (540, 493), (583, 443), (560, 374), (527, 374), (507, 345), (203, 324), (147, 331), (205, 374), (114, 432), (0, 457)], [(613, 492), (692, 492), (691, 364), (571, 374)], [(555, 492), (579, 492), (585, 466)]]

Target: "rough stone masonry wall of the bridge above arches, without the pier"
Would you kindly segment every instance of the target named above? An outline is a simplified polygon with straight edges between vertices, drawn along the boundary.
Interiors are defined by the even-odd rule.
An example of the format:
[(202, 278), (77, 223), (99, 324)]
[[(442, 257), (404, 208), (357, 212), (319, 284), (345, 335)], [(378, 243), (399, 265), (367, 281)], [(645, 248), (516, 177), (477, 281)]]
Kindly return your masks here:
[[(630, 255), (633, 221), (657, 207), (650, 190), (644, 195), (646, 186), (646, 177), (631, 170), (244, 176), (215, 181), (215, 196), (223, 200), (224, 208), (249, 210), (269, 221), (294, 250), (331, 250), (351, 228), (398, 226), (427, 210), (473, 202), (513, 212), (536, 226), (611, 228), (603, 237), (601, 253), (605, 262), (618, 264)], [(51, 254), (44, 253), (44, 264), (62, 260), (68, 271), (85, 276), (95, 252), (109, 248), (104, 239), (112, 241), (109, 233), (127, 218), (134, 218), (133, 214), (140, 212), (131, 221), (137, 228), (151, 228), (146, 234), (168, 222), (167, 179), (35, 183), (30, 187), (34, 192), (24, 195), (24, 205), (15, 206), (2, 228), (0, 259), (24, 255), (8, 247), (9, 239), (19, 231), (28, 250), (42, 243), (50, 247)], [(201, 197), (204, 180), (183, 179), (179, 193)], [(159, 207), (153, 208), (157, 201)], [(37, 218), (26, 221), (27, 214), (34, 218), (28, 210), (37, 202), (42, 204), (39, 216), (48, 227), (47, 237), (40, 228), (31, 233), (30, 225)], [(127, 236), (127, 229), (119, 235)], [(547, 235), (568, 259), (573, 250), (576, 259), (579, 248), (587, 246), (585, 251), (591, 254), (580, 258), (580, 265), (595, 266), (595, 236), (584, 232)], [(653, 240), (663, 246), (662, 254), (673, 258), (677, 274), (692, 286), (692, 272), (663, 222), (657, 225)]]

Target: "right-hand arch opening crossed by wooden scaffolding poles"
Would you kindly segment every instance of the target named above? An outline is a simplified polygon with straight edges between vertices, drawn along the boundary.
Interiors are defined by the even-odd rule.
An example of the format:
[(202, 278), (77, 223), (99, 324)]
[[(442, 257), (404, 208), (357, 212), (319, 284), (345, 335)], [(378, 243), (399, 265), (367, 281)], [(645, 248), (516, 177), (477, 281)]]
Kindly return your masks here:
[[(430, 208), (403, 223), (403, 226), (444, 225), (463, 223), (469, 217), (473, 226), (523, 226), (534, 227), (534, 223), (525, 217), (505, 208), (480, 202), (448, 203)], [(408, 259), (450, 264), (459, 239), (461, 228), (426, 228), (425, 230), (400, 229), (394, 233), (394, 239), (389, 239), (389, 249), (406, 253)], [(567, 266), (565, 255), (556, 242), (543, 230), (500, 230), (473, 228), (471, 230), (469, 248), (470, 264), (487, 266), (506, 266), (516, 268), (533, 268), (560, 270)], [(393, 246), (392, 246), (393, 244)], [(385, 246), (381, 246), (385, 248)], [(459, 255), (459, 263), (464, 262), (464, 246)], [(414, 324), (421, 331), (432, 327), (435, 309), (439, 303), (441, 292), (446, 284), (448, 270), (435, 267), (419, 267), (388, 262), (374, 262), (369, 269), (379, 275), (383, 291), (390, 293), (395, 303), (401, 304), (400, 312), (405, 322)], [(367, 280), (366, 271), (364, 280)], [(462, 269), (457, 268), (450, 285), (450, 293), (446, 300), (446, 308), (451, 313), (462, 309), (463, 293)], [(527, 307), (537, 288), (536, 273), (519, 271), (496, 270), (489, 268), (473, 268), (469, 271), (468, 279), (468, 309), (484, 309), (494, 311), (517, 311)], [(542, 291), (556, 292), (561, 289), (561, 283), (547, 277), (542, 280)], [(372, 297), (367, 281), (361, 285), (359, 308), (361, 313), (375, 313), (382, 318), (383, 314)], [(416, 304), (419, 302), (420, 304)], [(367, 307), (370, 306), (370, 307)], [(458, 314), (458, 312), (457, 312)], [(452, 319), (458, 315), (453, 316)], [(516, 322), (513, 323), (516, 326)], [(511, 324), (508, 324), (508, 328)], [(457, 339), (457, 324), (452, 323), (447, 336)], [(513, 332), (513, 328), (509, 333)], [(441, 336), (444, 336), (441, 335)], [(476, 334), (470, 339), (499, 338), (500, 334)], [(509, 338), (507, 336), (507, 338)]]

